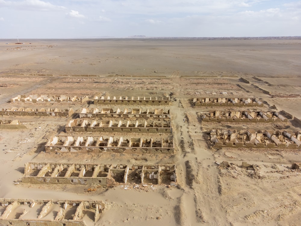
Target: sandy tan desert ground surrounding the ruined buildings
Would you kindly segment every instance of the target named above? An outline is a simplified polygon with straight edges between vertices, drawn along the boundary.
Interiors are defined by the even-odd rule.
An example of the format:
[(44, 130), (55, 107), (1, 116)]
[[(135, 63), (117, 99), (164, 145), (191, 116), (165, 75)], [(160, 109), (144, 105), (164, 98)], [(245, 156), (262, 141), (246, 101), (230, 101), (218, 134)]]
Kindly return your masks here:
[[(301, 39), (0, 40), (0, 108), (73, 108), (70, 117), (0, 115), (0, 198), (102, 200), (87, 225), (301, 225), (301, 149), (216, 149), (206, 131), (301, 130)], [(9, 44), (5, 44), (9, 43)], [(80, 102), (10, 102), (18, 95), (88, 96)], [(169, 106), (97, 105), (94, 96), (170, 98)], [(201, 97), (256, 98), (263, 106), (194, 106)], [(73, 132), (82, 108), (163, 109), (172, 133)], [(287, 123), (204, 122), (209, 111), (276, 111)], [(55, 135), (173, 138), (174, 153), (50, 153)], [(209, 139), (209, 140), (208, 140)], [(229, 165), (220, 165), (223, 161)], [(177, 183), (23, 183), (27, 162), (172, 164)], [(242, 162), (253, 167), (243, 168)], [(153, 184), (152, 184), (153, 183)], [(4, 209), (0, 209), (0, 215)], [(20, 211), (20, 213), (18, 212)], [(14, 218), (23, 210), (15, 211)], [(49, 212), (55, 215), (57, 212)], [(1, 220), (1, 217), (0, 217)], [(49, 223), (51, 225), (51, 223)]]

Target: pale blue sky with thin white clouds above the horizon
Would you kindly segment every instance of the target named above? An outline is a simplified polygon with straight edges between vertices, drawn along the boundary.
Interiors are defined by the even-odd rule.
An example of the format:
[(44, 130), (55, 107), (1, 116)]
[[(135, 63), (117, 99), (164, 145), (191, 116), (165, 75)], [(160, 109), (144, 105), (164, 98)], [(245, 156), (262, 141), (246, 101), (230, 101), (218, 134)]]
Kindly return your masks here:
[(301, 36), (301, 1), (0, 0), (0, 39)]

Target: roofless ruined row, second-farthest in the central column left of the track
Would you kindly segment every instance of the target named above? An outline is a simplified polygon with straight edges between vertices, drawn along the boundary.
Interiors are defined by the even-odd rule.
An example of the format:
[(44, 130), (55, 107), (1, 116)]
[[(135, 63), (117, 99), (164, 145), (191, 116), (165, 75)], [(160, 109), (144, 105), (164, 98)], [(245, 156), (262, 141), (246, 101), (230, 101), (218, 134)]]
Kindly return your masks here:
[(82, 108), (79, 113), (79, 118), (137, 118), (137, 119), (170, 119), (169, 110), (167, 112), (163, 109), (154, 109), (142, 111), (141, 108), (124, 108), (121, 111), (119, 108), (113, 110), (113, 108)]

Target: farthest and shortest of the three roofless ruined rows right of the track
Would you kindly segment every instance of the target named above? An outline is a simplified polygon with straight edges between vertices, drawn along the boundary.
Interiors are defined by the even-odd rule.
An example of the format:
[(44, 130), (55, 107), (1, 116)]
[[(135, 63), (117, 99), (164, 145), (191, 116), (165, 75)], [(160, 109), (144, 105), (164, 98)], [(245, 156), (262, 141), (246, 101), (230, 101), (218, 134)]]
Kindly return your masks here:
[(194, 106), (260, 106), (263, 103), (256, 98), (225, 98), (225, 97), (201, 97), (193, 98), (192, 103)]

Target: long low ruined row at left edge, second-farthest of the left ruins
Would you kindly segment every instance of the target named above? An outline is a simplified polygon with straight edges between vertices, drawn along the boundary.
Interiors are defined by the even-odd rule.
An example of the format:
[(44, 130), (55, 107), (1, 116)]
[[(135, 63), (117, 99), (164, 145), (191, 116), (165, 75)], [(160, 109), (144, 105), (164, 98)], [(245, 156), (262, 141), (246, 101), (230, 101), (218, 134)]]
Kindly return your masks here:
[(58, 108), (2, 108), (0, 115), (16, 115), (16, 116), (72, 116), (74, 113), (72, 108), (60, 110)]

